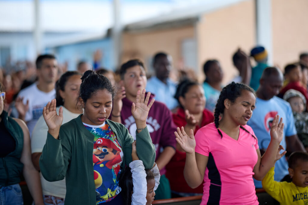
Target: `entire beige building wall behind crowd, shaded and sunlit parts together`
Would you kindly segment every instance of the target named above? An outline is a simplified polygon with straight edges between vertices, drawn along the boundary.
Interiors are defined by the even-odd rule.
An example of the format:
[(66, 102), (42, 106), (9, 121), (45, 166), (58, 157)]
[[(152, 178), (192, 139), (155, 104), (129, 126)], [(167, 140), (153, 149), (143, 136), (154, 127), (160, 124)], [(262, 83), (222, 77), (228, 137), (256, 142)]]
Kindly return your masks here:
[[(271, 0), (273, 61), (283, 67), (298, 60), (299, 53), (308, 51), (306, 26), (307, 0)], [(245, 53), (256, 44), (255, 1), (248, 0), (204, 14), (195, 26), (126, 32), (123, 34), (121, 60), (140, 58), (149, 66), (154, 53), (172, 55), (174, 67), (182, 63), (182, 42), (197, 38), (197, 76), (205, 78), (202, 66), (208, 59), (217, 59), (225, 73), (226, 84), (237, 75), (232, 55), (241, 48)], [(252, 63), (253, 60), (252, 60)]]

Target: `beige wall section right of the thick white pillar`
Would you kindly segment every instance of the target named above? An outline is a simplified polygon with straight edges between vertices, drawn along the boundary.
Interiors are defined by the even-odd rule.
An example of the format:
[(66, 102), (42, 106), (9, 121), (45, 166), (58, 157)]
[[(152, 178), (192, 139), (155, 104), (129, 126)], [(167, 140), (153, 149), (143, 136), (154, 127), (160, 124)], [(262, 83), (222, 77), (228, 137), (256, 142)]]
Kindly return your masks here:
[(284, 69), (308, 52), (307, 0), (272, 0), (273, 62)]

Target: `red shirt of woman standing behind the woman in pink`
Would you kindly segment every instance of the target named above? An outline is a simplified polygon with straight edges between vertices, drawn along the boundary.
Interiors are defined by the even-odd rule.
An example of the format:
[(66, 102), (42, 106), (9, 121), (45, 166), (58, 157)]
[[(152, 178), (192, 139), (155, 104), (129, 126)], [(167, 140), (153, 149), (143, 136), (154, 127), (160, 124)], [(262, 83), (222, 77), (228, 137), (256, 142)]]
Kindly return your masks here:
[[(181, 127), (186, 125), (185, 112), (183, 108), (179, 108), (175, 114), (172, 114), (173, 121), (176, 126)], [(208, 109), (203, 110), (203, 116), (201, 121), (201, 127), (214, 121), (213, 113)], [(196, 134), (200, 127), (197, 125), (194, 131)], [(188, 186), (184, 179), (184, 166), (186, 160), (186, 153), (176, 150), (175, 155), (172, 157), (170, 162), (167, 164), (166, 177), (169, 179), (170, 187), (172, 191), (182, 192), (182, 193), (203, 193), (203, 185), (192, 189)]]

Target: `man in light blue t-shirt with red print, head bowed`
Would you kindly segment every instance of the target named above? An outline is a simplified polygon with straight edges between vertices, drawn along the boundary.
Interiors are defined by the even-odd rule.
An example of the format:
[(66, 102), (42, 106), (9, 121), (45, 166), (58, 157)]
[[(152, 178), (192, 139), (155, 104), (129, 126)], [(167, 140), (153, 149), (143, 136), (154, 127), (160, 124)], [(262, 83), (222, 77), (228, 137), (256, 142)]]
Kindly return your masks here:
[[(298, 139), (291, 106), (288, 102), (276, 97), (282, 87), (282, 73), (274, 67), (266, 68), (260, 79), (260, 87), (257, 90), (256, 108), (253, 115), (248, 121), (248, 125), (253, 129), (261, 151), (261, 155), (267, 149), (270, 143), (270, 127), (274, 116), (279, 115), (283, 119), (284, 138), (281, 145), (288, 152), (303, 151), (306, 152), (304, 146)], [(286, 157), (283, 156), (275, 164), (274, 179), (280, 181), (288, 172), (288, 163)], [(262, 188), (261, 181), (254, 179), (256, 188)]]

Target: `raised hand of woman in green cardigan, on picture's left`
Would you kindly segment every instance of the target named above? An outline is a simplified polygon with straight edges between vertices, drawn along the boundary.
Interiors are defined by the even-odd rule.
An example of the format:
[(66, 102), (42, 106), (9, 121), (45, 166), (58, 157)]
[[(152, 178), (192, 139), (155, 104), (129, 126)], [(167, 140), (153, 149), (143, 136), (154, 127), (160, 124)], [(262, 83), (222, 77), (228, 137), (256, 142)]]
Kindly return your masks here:
[(56, 109), (56, 99), (53, 99), (43, 108), (43, 117), (48, 126), (48, 132), (55, 139), (58, 139), (59, 130), (63, 121), (63, 108), (61, 107), (59, 109), (59, 115), (57, 115)]

